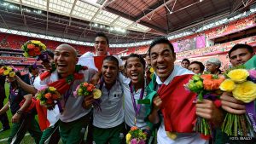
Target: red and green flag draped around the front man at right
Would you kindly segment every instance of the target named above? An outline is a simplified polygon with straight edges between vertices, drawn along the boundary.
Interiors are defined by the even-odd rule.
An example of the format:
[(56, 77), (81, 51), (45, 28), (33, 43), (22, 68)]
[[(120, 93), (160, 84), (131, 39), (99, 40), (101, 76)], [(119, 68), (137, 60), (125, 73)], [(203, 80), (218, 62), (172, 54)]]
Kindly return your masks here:
[[(162, 101), (160, 111), (164, 117), (166, 131), (191, 133), (196, 121), (195, 103), (196, 94), (184, 88), (193, 74), (182, 74), (175, 76), (170, 84), (162, 84), (157, 91), (155, 88), (155, 75), (147, 87), (148, 105), (147, 115), (151, 112), (154, 95), (159, 95)], [(148, 119), (146, 119), (148, 120)]]

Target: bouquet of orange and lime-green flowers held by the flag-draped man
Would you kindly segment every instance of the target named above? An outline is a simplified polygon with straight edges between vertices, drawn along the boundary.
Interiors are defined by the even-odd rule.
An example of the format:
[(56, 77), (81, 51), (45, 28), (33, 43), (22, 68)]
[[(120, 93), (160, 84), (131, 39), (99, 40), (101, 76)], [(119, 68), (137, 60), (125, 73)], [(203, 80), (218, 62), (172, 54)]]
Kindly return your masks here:
[[(185, 88), (197, 95), (197, 101), (203, 99), (214, 101), (214, 104), (220, 107), (219, 99), (219, 85), (224, 81), (224, 78), (219, 78), (217, 75), (212, 74), (196, 74), (185, 84)], [(207, 119), (197, 117), (195, 124), (195, 131), (201, 133), (205, 138), (212, 134), (211, 126)]]

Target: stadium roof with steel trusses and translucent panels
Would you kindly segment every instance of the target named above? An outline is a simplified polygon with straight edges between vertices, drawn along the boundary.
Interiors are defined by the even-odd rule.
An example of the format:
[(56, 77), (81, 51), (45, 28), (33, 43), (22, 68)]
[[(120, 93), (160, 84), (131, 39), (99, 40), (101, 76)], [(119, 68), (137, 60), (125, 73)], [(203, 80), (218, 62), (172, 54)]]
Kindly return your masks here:
[(5, 0), (0, 27), (93, 42), (134, 43), (172, 35), (249, 9), (254, 0)]

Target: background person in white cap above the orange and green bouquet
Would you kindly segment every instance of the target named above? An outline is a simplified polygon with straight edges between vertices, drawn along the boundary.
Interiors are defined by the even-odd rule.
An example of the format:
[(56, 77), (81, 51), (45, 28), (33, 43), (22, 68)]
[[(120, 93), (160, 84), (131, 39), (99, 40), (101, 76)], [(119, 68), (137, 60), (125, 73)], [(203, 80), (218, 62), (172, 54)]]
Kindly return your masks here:
[(207, 72), (211, 72), (211, 74), (221, 74), (220, 66), (221, 62), (217, 58), (210, 58), (206, 61)]

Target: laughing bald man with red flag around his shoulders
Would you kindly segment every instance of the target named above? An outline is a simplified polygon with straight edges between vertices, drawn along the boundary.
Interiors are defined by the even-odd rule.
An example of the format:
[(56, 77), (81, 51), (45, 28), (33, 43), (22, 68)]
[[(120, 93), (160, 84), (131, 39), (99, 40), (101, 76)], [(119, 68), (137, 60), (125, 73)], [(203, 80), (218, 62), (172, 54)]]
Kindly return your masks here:
[[(84, 96), (74, 97), (73, 91), (80, 83), (89, 82), (96, 73), (95, 70), (78, 66), (76, 49), (68, 44), (61, 44), (55, 49), (54, 56), (56, 70), (48, 78), (36, 79), (35, 87), (53, 86), (61, 93), (62, 99), (55, 105), (53, 111), (59, 112), (55, 117), (60, 118), (60, 134), (64, 144), (79, 143), (83, 139), (90, 120), (90, 107), (83, 107)], [(58, 111), (56, 111), (58, 110)], [(57, 118), (56, 118), (57, 119)]]

